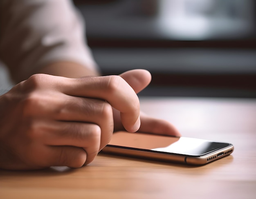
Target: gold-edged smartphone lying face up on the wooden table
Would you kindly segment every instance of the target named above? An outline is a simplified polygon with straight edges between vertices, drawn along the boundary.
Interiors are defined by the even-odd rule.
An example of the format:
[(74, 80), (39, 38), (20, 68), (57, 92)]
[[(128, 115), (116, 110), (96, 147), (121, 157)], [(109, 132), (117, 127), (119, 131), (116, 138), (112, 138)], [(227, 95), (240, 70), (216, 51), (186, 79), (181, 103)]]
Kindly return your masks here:
[(230, 143), (148, 133), (115, 132), (102, 152), (121, 156), (203, 165), (231, 154)]

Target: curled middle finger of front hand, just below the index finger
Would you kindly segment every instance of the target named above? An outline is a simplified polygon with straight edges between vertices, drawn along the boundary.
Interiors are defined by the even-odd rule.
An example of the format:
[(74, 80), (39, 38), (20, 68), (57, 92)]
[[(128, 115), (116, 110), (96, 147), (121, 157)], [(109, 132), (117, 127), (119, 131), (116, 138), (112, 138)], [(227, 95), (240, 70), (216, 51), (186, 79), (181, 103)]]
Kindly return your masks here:
[[(61, 104), (62, 114), (58, 115), (55, 118), (56, 120), (97, 124), (101, 129), (101, 137), (99, 138), (101, 141), (100, 150), (108, 144), (114, 131), (112, 107), (108, 102), (92, 98), (69, 96)], [(81, 125), (79, 126), (79, 123), (76, 125), (77, 129), (74, 129), (80, 132)], [(86, 124), (82, 126), (85, 127)], [(69, 130), (72, 132), (71, 129)]]

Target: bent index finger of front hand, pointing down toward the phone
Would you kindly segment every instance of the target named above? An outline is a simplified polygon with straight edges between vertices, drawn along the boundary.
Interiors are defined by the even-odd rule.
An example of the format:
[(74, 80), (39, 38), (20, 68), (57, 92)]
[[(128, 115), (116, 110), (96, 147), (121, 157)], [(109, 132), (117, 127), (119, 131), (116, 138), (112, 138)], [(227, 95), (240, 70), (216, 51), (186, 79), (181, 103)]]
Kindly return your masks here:
[(62, 85), (58, 89), (67, 95), (107, 101), (121, 112), (121, 121), (127, 131), (135, 132), (139, 129), (139, 98), (120, 76), (65, 78)]

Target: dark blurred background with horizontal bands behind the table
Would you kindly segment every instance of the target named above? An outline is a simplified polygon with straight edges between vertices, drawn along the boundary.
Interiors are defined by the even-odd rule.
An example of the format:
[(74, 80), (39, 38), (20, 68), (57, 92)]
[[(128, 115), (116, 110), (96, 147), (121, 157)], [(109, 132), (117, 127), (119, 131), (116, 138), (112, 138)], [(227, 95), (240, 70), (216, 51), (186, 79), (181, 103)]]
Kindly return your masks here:
[(151, 72), (140, 95), (256, 97), (255, 0), (74, 3), (103, 75)]

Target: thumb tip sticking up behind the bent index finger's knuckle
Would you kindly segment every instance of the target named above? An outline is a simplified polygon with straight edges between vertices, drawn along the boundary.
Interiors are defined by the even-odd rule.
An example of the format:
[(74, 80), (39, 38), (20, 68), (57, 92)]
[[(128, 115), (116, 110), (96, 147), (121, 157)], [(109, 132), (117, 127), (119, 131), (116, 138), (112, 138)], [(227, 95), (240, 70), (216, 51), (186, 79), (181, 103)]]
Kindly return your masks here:
[(120, 74), (136, 93), (146, 88), (151, 81), (151, 74), (144, 69), (129, 70)]

